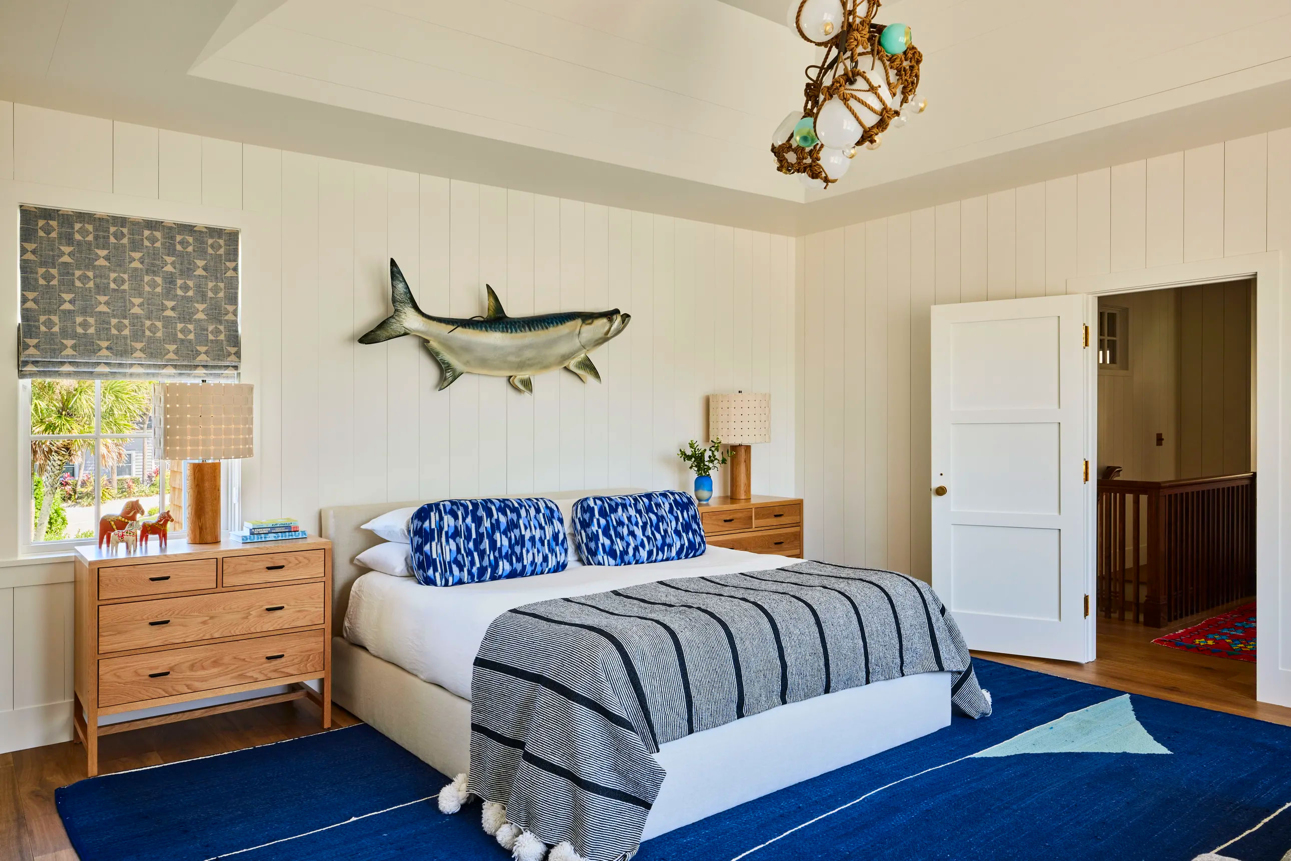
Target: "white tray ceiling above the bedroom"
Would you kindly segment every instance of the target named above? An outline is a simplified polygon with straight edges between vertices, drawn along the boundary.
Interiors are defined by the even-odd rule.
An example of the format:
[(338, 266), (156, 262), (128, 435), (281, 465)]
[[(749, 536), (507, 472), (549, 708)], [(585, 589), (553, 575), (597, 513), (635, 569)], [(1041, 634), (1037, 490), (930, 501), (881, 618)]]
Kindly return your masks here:
[(0, 0), (0, 98), (781, 232), (1291, 125), (1291, 0), (904, 0), (928, 112), (804, 192), (785, 5)]

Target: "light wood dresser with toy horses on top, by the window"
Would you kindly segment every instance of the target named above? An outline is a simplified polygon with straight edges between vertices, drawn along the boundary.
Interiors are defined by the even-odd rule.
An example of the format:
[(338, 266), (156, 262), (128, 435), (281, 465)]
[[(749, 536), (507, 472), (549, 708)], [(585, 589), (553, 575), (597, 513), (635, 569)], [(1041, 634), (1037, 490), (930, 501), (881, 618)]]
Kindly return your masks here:
[[(76, 549), (72, 719), (89, 776), (107, 733), (301, 697), (330, 727), (332, 542), (150, 543), (132, 555)], [(278, 685), (292, 689), (98, 725), (99, 715)]]

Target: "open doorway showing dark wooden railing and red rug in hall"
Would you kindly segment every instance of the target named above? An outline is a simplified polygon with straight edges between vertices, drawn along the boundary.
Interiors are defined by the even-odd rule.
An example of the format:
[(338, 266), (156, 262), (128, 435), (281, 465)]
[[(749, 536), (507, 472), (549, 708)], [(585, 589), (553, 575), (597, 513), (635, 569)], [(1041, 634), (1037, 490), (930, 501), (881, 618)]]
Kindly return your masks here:
[(1100, 297), (1099, 658), (1255, 698), (1255, 285)]

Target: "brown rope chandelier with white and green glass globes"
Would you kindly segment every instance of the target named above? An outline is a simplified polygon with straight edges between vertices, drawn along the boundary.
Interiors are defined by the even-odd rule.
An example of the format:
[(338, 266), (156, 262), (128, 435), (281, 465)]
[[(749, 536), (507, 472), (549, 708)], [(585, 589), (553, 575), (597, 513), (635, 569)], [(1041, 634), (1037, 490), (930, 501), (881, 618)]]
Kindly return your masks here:
[(776, 128), (776, 169), (804, 186), (843, 178), (856, 148), (879, 148), (882, 134), (922, 114), (915, 94), (923, 54), (906, 25), (879, 25), (879, 0), (791, 0), (789, 26), (824, 56), (806, 68), (803, 110)]

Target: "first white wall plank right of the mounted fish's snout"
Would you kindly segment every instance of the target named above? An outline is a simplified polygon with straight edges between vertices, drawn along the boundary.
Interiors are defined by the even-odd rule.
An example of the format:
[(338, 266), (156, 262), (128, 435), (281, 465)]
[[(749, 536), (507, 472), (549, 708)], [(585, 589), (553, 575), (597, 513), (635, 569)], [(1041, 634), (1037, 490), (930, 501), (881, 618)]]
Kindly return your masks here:
[[(729, 236), (729, 234), (728, 234)], [(631, 307), (636, 327), (631, 342), (631, 483), (633, 487), (655, 489), (655, 218), (633, 213), (633, 280)]]

